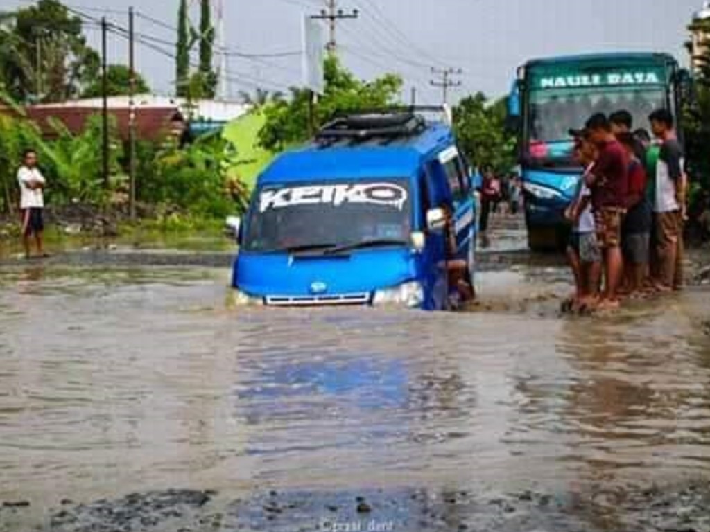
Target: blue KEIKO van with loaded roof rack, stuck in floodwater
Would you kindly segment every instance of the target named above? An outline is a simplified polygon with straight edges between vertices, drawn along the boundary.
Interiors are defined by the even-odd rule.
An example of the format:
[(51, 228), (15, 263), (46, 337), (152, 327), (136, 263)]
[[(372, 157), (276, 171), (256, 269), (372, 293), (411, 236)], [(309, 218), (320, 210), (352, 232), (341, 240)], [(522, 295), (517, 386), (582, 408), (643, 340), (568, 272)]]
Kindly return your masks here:
[(466, 261), (473, 284), (476, 211), (445, 121), (341, 116), (258, 178), (234, 223), (237, 304), (447, 309), (451, 261)]

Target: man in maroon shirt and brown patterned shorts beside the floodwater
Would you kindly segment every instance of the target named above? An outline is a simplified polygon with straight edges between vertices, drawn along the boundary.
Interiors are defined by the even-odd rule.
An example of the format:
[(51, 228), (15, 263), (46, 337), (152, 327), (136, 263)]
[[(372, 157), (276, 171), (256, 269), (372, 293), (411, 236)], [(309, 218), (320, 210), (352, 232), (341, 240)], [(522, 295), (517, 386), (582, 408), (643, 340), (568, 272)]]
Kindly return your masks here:
[(591, 190), (591, 205), (599, 247), (603, 251), (604, 294), (601, 306), (619, 306), (617, 290), (623, 275), (621, 221), (628, 196), (628, 155), (611, 132), (605, 115), (598, 113), (586, 123), (589, 138), (599, 158), (585, 179)]

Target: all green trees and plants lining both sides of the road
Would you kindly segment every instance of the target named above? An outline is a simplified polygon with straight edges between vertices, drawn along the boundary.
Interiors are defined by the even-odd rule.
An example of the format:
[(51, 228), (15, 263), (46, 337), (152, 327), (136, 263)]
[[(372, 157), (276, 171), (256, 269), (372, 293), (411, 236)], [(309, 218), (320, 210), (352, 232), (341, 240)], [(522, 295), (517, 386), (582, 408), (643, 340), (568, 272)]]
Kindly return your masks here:
[[(186, 26), (187, 1), (180, 3), (176, 76), (178, 95), (214, 96), (217, 74), (211, 70), (214, 33), (209, 31), (209, 2), (200, 2), (202, 33)], [(708, 24), (707, 22), (705, 22)], [(71, 133), (54, 121), (51, 134), (40, 132), (27, 118), (26, 107), (101, 93), (97, 84), (100, 58), (86, 42), (82, 19), (60, 0), (39, 0), (16, 11), (0, 12), (0, 218), (16, 221), (16, 169), (26, 148), (40, 155), (48, 178), (48, 204), (58, 216), (75, 211), (111, 218), (124, 224), (128, 214), (129, 160), (126, 145), (111, 123), (110, 179), (102, 177), (102, 123), (88, 121)], [(710, 33), (710, 25), (706, 28)], [(190, 65), (190, 50), (199, 51), (199, 67)], [(43, 52), (38, 54), (38, 51)], [(38, 62), (37, 58), (41, 60)], [(403, 79), (385, 74), (358, 79), (335, 58), (325, 65), (325, 94), (310, 118), (310, 92), (293, 87), (286, 94), (261, 89), (242, 94), (252, 106), (250, 116), (192, 143), (166, 135), (141, 140), (137, 149), (136, 199), (140, 223), (171, 229), (219, 227), (224, 216), (246, 208), (258, 172), (281, 150), (307, 140), (337, 111), (381, 108), (400, 103)], [(129, 91), (129, 70), (109, 65), (109, 94)], [(708, 211), (710, 194), (710, 50), (696, 79), (697, 105), (687, 110), (687, 150), (693, 187), (690, 213), (694, 220)], [(139, 91), (150, 87), (143, 77)], [(453, 109), (459, 145), (476, 168), (508, 172), (515, 165), (515, 139), (506, 132), (504, 99), (471, 94)], [(312, 121), (311, 121), (312, 120)], [(70, 216), (71, 218), (72, 216)], [(85, 216), (84, 216), (85, 217)]]

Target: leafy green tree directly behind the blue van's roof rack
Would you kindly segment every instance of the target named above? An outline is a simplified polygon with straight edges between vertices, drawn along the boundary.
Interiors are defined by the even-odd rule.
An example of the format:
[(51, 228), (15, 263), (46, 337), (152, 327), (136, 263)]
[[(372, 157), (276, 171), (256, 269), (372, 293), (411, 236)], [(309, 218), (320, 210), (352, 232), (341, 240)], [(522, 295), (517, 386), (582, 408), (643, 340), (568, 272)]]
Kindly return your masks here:
[[(335, 57), (325, 62), (325, 94), (315, 107), (315, 126), (337, 111), (357, 111), (394, 104), (402, 79), (394, 74), (364, 82), (339, 65)], [(266, 123), (259, 132), (259, 143), (268, 150), (281, 150), (308, 138), (310, 91), (291, 89), (289, 101), (279, 100), (264, 108)]]

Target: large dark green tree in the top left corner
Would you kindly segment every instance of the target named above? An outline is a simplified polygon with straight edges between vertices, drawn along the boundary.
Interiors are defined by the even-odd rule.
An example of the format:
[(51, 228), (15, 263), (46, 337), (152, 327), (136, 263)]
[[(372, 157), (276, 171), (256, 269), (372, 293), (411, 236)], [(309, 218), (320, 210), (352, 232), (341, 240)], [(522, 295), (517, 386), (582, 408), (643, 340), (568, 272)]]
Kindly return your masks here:
[(97, 77), (99, 55), (87, 45), (81, 19), (60, 1), (39, 0), (18, 9), (11, 22), (5, 18), (0, 67), (18, 101), (64, 101)]

